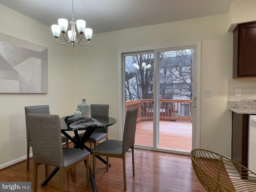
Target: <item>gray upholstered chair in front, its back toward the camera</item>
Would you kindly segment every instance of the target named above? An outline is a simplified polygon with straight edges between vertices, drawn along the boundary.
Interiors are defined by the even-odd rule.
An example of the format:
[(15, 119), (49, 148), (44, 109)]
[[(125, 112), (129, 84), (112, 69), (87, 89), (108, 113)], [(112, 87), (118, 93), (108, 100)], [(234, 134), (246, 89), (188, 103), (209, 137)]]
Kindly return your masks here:
[(83, 161), (86, 165), (86, 189), (89, 190), (90, 152), (62, 147), (59, 116), (30, 113), (28, 114), (28, 124), (33, 143), (34, 192), (37, 192), (38, 166), (40, 164), (60, 168), (60, 192), (63, 192), (64, 172)]

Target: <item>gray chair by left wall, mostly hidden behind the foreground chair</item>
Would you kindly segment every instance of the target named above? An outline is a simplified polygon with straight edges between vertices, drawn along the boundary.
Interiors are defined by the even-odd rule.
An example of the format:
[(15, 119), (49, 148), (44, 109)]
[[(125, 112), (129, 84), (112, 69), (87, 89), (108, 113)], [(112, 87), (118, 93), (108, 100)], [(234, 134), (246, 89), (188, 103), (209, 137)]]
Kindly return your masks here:
[[(28, 127), (28, 114), (34, 113), (34, 114), (50, 114), (50, 108), (49, 105), (38, 105), (38, 106), (26, 106), (25, 107), (25, 119), (26, 119), (26, 133), (27, 133), (27, 170), (29, 170), (29, 152), (30, 147), (32, 147), (32, 142), (30, 139), (30, 131)], [(62, 142), (66, 143), (66, 146), (68, 147), (68, 138), (66, 136), (62, 136)]]

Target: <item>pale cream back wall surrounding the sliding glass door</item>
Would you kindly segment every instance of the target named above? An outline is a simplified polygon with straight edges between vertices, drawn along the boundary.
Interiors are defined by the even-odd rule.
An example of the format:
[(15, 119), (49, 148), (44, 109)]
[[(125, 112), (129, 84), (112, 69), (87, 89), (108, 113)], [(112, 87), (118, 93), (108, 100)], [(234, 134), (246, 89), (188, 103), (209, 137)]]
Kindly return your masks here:
[[(77, 98), (110, 104), (118, 118), (118, 50), (202, 41), (201, 148), (231, 156), (231, 112), (227, 109), (228, 78), (232, 78), (232, 32), (227, 15), (95, 34), (85, 50), (75, 48)], [(211, 97), (204, 90), (211, 89)], [(79, 91), (78, 91), (79, 90)], [(198, 101), (199, 102), (199, 101)], [(109, 128), (117, 138), (117, 126)]]

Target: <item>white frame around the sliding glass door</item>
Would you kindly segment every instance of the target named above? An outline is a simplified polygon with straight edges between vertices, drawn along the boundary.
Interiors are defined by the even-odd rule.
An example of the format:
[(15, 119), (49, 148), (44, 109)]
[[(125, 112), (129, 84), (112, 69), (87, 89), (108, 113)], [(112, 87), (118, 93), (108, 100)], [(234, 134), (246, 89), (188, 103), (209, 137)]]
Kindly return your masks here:
[[(124, 86), (124, 71), (123, 68), (124, 66), (122, 65), (122, 54), (124, 53), (130, 53), (130, 52), (142, 52), (142, 51), (150, 51), (153, 50), (154, 53), (156, 53), (155, 50), (166, 50), (168, 48), (184, 48), (185, 46), (194, 46), (194, 52), (196, 54), (196, 57), (194, 57), (194, 70), (193, 70), (193, 100), (192, 100), (192, 105), (194, 106), (192, 108), (192, 149), (194, 148), (200, 148), (200, 95), (201, 95), (201, 42), (191, 42), (191, 43), (184, 43), (184, 44), (171, 44), (171, 45), (166, 45), (166, 46), (153, 46), (153, 47), (146, 47), (146, 48), (134, 48), (134, 49), (125, 49), (125, 50), (118, 50), (118, 139), (122, 140), (122, 133), (123, 133), (123, 125), (125, 122), (125, 102), (124, 102), (124, 90), (122, 90), (122, 87)], [(158, 72), (158, 66), (156, 65), (156, 60), (154, 60), (154, 77), (156, 75), (156, 72)], [(159, 82), (159, 77), (158, 80), (154, 78), (154, 81)], [(156, 83), (156, 82), (154, 82)], [(156, 86), (154, 86), (154, 95), (153, 99), (156, 101), (155, 105), (159, 105), (159, 97), (157, 98), (157, 93), (159, 93), (159, 90), (156, 89)], [(157, 126), (157, 123), (159, 120), (159, 114), (154, 115), (153, 117), (153, 126)], [(154, 137), (157, 138), (155, 134), (156, 130), (154, 129)], [(155, 143), (154, 141), (153, 143)], [(153, 150), (158, 150), (158, 151), (164, 151), (159, 148), (156, 148), (153, 146)], [(170, 152), (170, 150), (169, 150)], [(175, 151), (174, 151), (175, 153)], [(180, 152), (179, 154), (188, 154), (187, 152)]]

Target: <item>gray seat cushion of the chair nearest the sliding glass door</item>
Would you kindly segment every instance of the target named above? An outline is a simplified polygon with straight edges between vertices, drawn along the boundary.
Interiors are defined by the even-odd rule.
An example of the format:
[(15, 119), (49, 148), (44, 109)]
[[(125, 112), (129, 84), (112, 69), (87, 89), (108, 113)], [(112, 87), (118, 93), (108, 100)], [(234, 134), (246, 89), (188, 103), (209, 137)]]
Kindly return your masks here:
[(105, 140), (92, 149), (95, 153), (121, 155), (123, 142), (119, 140)]

